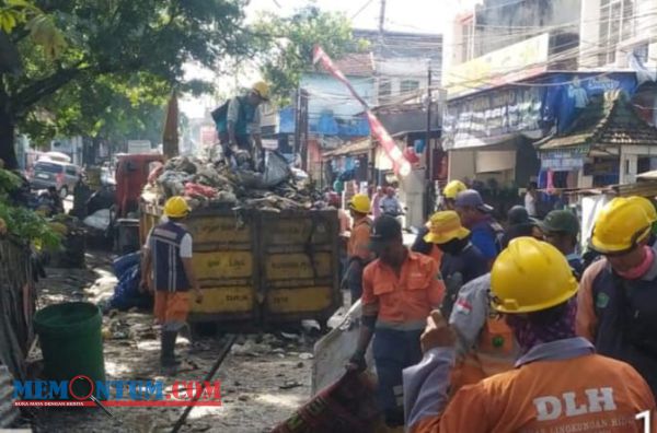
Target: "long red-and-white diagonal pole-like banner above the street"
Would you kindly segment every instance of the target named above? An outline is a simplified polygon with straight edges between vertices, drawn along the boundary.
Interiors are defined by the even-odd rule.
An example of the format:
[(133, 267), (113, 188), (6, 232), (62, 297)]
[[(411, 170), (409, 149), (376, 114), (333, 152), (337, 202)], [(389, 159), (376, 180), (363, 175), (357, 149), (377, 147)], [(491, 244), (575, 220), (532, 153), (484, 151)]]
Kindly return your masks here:
[(338, 81), (341, 81), (344, 85), (347, 86), (354, 98), (362, 104), (362, 107), (366, 109), (367, 119), (370, 126), (370, 131), (374, 139), (381, 143), (381, 147), (392, 161), (393, 171), (395, 174), (401, 176), (406, 176), (411, 173), (411, 163), (404, 157), (404, 154), (397, 148), (396, 143), (390, 137), (390, 133), (385, 130), (383, 125), (379, 121), (377, 116), (369, 109), (367, 103), (360, 95), (356, 92), (349, 80), (345, 77), (345, 74), (335, 67), (333, 60), (324, 52), (324, 50), (316, 46), (314, 48), (313, 63), (320, 62), (322, 67), (326, 69), (333, 77), (335, 77)]

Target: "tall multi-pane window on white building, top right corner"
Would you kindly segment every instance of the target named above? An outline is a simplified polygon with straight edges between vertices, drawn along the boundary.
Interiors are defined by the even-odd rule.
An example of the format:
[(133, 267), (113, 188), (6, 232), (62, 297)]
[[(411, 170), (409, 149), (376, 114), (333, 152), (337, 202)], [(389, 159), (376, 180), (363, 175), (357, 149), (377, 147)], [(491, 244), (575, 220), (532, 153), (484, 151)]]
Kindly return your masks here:
[(619, 43), (633, 37), (633, 0), (602, 0), (600, 3), (600, 66), (615, 63)]

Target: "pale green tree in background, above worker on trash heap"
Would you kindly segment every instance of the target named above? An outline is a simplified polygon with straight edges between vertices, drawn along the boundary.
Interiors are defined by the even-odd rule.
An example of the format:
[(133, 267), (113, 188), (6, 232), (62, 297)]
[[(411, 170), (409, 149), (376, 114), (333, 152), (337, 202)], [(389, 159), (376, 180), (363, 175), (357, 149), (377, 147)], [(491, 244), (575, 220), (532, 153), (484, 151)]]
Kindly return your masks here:
[(349, 20), (343, 13), (321, 11), (314, 5), (298, 10), (289, 17), (264, 14), (254, 24), (264, 52), (260, 69), (272, 83), (279, 104), (289, 102), (304, 71), (312, 70), (315, 45), (333, 58), (367, 48), (365, 40), (354, 39)]

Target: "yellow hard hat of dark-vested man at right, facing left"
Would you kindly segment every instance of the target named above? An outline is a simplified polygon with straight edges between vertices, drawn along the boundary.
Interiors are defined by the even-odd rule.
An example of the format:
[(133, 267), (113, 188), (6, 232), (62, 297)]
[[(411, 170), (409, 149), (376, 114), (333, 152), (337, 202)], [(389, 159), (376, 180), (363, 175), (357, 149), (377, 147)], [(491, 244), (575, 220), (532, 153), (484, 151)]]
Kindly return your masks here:
[(596, 220), (591, 248), (601, 254), (632, 249), (650, 234), (655, 211), (646, 212), (646, 203), (638, 197), (614, 198), (602, 208)]

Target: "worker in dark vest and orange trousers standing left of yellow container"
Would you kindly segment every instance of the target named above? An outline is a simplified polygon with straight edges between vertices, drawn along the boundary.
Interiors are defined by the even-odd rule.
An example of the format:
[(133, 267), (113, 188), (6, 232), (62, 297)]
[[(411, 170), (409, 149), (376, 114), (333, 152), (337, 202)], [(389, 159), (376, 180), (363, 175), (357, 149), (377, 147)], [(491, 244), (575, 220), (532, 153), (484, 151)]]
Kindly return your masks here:
[(175, 373), (175, 339), (186, 325), (189, 290), (196, 302), (203, 293), (192, 264), (193, 239), (183, 221), (189, 213), (184, 198), (176, 196), (164, 203), (166, 221), (154, 226), (143, 246), (141, 286), (154, 292), (154, 315), (162, 325), (160, 364), (163, 374)]

